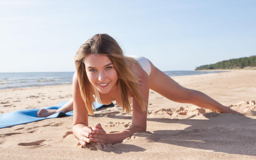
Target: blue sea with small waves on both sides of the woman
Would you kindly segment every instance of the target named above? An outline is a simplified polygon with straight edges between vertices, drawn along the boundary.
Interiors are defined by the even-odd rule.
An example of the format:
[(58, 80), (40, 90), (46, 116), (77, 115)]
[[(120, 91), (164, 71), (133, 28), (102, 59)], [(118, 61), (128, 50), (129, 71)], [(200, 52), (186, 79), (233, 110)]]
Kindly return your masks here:
[[(210, 74), (221, 71), (164, 71), (168, 76)], [(0, 89), (72, 84), (74, 72), (0, 73)]]

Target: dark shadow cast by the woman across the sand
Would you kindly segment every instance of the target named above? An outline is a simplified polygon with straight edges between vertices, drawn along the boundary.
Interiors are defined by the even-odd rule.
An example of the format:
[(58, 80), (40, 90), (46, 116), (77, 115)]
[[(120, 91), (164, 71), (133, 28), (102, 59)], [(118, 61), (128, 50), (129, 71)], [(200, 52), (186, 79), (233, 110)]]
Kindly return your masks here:
[[(131, 117), (108, 112), (107, 116), (115, 119), (131, 119)], [(147, 121), (161, 123), (179, 123), (190, 125), (184, 130), (156, 130), (154, 132), (137, 132), (133, 136), (146, 137), (149, 141), (167, 143), (182, 147), (213, 150), (228, 154), (256, 156), (256, 119), (244, 115), (206, 113), (208, 119), (168, 119), (148, 118)], [(245, 123), (246, 122), (246, 123)], [(246, 131), (246, 132), (245, 132)], [(159, 138), (160, 137), (160, 138)], [(131, 151), (127, 144), (118, 144), (121, 151)], [(122, 149), (125, 147), (125, 149)], [(132, 151), (144, 151), (132, 146)], [(136, 148), (136, 149), (135, 149)]]

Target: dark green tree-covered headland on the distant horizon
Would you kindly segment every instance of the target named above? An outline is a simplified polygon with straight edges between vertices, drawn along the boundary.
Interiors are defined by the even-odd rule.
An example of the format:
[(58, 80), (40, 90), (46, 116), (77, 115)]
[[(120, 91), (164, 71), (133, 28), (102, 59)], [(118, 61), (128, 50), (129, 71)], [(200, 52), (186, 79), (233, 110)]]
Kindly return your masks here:
[(210, 65), (201, 65), (200, 67), (196, 67), (195, 70), (234, 69), (234, 68), (242, 69), (243, 67), (256, 67), (256, 56), (230, 59), (227, 61), (221, 61), (221, 62), (210, 64)]

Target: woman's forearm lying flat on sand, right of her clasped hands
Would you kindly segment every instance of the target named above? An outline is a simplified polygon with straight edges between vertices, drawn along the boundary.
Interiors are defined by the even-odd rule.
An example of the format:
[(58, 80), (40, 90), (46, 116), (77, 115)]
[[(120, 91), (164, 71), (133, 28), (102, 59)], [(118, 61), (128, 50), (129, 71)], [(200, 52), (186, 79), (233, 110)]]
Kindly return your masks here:
[(116, 132), (116, 133), (108, 133), (106, 143), (121, 143), (125, 138), (132, 136), (135, 132), (143, 132), (140, 127), (131, 127), (128, 128), (127, 130), (121, 131), (121, 132)]

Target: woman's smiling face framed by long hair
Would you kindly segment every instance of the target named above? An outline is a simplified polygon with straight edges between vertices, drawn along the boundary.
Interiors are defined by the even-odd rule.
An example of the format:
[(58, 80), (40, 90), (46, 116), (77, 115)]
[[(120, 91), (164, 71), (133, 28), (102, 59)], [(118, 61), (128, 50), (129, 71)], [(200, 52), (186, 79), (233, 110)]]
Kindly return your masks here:
[(117, 82), (117, 71), (106, 55), (90, 54), (84, 60), (86, 74), (100, 93), (109, 93)]

